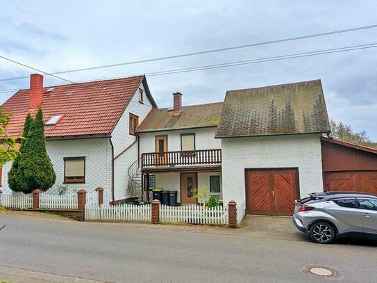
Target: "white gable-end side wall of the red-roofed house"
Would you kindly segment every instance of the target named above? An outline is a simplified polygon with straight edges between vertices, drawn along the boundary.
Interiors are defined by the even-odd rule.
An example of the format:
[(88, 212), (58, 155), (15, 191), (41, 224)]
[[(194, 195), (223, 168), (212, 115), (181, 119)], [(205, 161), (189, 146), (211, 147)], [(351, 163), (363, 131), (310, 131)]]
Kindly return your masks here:
[[(146, 97), (143, 83), (139, 86), (143, 90), (144, 104), (139, 102), (139, 90), (137, 89), (122, 117), (117, 122), (111, 134), (112, 144), (114, 145), (114, 156), (116, 157), (124, 149), (130, 146), (136, 140), (136, 136), (129, 134), (129, 114), (137, 115), (139, 117), (139, 124), (146, 118), (149, 111), (151, 111), (152, 104)], [(114, 189), (115, 200), (121, 200), (127, 195), (128, 175), (127, 170), (130, 165), (137, 160), (137, 143), (124, 152), (114, 161)]]

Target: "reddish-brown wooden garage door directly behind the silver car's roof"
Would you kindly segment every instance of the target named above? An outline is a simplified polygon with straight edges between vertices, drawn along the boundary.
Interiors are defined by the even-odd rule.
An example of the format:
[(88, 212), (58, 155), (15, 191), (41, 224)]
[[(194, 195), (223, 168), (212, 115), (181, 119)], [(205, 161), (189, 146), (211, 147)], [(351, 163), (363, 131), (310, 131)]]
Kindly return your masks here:
[(377, 195), (377, 170), (325, 172), (325, 189)]

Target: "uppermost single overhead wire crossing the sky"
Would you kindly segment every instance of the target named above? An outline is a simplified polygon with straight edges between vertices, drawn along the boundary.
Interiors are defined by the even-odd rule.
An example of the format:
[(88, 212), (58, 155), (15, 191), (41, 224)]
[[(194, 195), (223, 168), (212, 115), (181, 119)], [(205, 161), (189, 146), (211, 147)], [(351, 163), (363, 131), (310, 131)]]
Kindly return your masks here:
[[(165, 57), (159, 57), (159, 58), (149, 58), (149, 59), (145, 59), (145, 60), (135, 60), (135, 61), (129, 61), (129, 62), (125, 62), (125, 63), (116, 63), (116, 64), (86, 67), (86, 68), (74, 69), (74, 70), (51, 72), (48, 75), (53, 76), (54, 74), (66, 74), (66, 73), (71, 73), (71, 72), (82, 72), (82, 71), (97, 70), (97, 69), (108, 68), (108, 67), (119, 67), (119, 66), (123, 66), (123, 65), (133, 65), (133, 64), (147, 63), (147, 62), (153, 62), (153, 61), (158, 61), (158, 60), (167, 60), (167, 59), (182, 58), (182, 57), (187, 57), (187, 56), (196, 56), (196, 55), (201, 55), (201, 54), (210, 54), (210, 53), (221, 52), (221, 51), (243, 49), (243, 48), (247, 48), (247, 47), (257, 47), (257, 46), (261, 46), (261, 45), (271, 45), (271, 44), (280, 43), (280, 42), (303, 40), (303, 39), (307, 39), (307, 38), (316, 38), (316, 37), (319, 37), (319, 36), (333, 35), (333, 34), (337, 34), (337, 33), (349, 33), (349, 32), (352, 32), (352, 31), (361, 31), (361, 30), (365, 30), (365, 29), (374, 29), (374, 28), (377, 28), (377, 24), (370, 25), (370, 26), (359, 26), (359, 27), (355, 27), (355, 28), (352, 28), (352, 29), (342, 29), (342, 30), (338, 30), (338, 31), (328, 31), (326, 33), (314, 33), (314, 34), (310, 34), (310, 35), (301, 35), (301, 36), (296, 36), (296, 37), (292, 37), (292, 38), (283, 38), (283, 39), (280, 39), (280, 40), (269, 40), (269, 41), (265, 41), (265, 42), (251, 43), (249, 45), (237, 45), (237, 46), (233, 46), (233, 47), (210, 49), (210, 50), (205, 50), (205, 51), (197, 51), (197, 52), (192, 52), (192, 53), (178, 54), (178, 55), (165, 56)], [(26, 66), (26, 67), (28, 67), (28, 66)], [(33, 70), (36, 70), (36, 69), (33, 69)], [(47, 73), (44, 72), (44, 74), (47, 74)], [(28, 79), (28, 76), (18, 76), (18, 77), (15, 77), (15, 78), (0, 79), (0, 81), (10, 81), (10, 80), (17, 80), (17, 79)], [(58, 79), (61, 79), (61, 78), (58, 77)], [(65, 81), (67, 81), (67, 80), (65, 80)]]

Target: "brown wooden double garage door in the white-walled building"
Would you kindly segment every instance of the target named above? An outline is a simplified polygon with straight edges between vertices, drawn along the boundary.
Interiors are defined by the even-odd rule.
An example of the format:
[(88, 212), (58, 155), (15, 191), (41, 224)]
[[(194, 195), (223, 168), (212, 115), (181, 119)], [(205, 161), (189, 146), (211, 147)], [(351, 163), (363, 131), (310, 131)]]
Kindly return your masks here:
[(297, 169), (246, 170), (248, 214), (292, 215), (299, 198)]

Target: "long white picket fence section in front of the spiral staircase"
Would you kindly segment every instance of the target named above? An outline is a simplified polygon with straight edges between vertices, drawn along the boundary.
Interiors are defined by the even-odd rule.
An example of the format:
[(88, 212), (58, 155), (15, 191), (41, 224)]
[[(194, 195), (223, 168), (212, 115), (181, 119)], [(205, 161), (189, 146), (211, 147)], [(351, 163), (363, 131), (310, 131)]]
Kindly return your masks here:
[(151, 222), (151, 204), (86, 204), (85, 221)]

